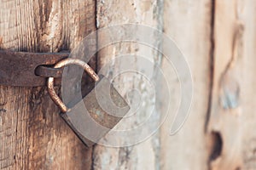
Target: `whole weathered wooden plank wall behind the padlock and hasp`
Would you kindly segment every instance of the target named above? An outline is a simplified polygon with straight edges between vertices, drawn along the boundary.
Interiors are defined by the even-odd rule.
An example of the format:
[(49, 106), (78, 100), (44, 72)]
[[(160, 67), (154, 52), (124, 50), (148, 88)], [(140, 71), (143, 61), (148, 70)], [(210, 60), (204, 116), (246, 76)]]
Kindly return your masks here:
[[(194, 98), (187, 122), (170, 136), (180, 97), (175, 71), (161, 54), (142, 44), (117, 42), (101, 49), (91, 63), (98, 71), (119, 54), (147, 54), (168, 73), (170, 116), (157, 133), (129, 147), (96, 145), (86, 150), (58, 116), (45, 88), (0, 87), (0, 169), (256, 169), (255, 9), (254, 0), (2, 0), (1, 49), (72, 50), (91, 31), (126, 23), (164, 31), (189, 62)], [(105, 38), (97, 37), (98, 45)], [(155, 39), (161, 47), (160, 37)], [(125, 64), (112, 62), (108, 76)], [(131, 68), (138, 64), (135, 59)], [(158, 79), (155, 75), (152, 78)], [(114, 83), (125, 96), (139, 87), (138, 78), (124, 75)], [(148, 94), (148, 89), (139, 89)], [(165, 92), (161, 97), (166, 99)], [(159, 116), (148, 129), (156, 128), (160, 104), (151, 98), (143, 104), (158, 106)], [(124, 121), (123, 128), (143, 118)]]

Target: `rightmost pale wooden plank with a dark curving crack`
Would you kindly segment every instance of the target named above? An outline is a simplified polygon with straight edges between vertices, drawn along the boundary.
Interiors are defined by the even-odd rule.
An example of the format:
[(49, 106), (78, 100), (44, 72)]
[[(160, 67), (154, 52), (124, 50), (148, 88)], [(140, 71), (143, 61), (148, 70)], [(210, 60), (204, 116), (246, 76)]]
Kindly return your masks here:
[(209, 131), (221, 150), (212, 169), (255, 169), (255, 2), (216, 1), (214, 85)]

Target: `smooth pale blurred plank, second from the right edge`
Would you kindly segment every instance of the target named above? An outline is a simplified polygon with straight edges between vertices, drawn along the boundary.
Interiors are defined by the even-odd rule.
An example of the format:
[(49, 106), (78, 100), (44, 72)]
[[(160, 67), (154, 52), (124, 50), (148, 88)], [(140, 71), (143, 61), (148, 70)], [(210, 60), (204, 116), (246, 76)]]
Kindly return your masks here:
[(160, 133), (161, 169), (207, 169), (209, 153), (204, 128), (211, 92), (212, 1), (165, 1), (164, 31), (188, 60), (194, 96), (189, 118), (178, 133), (170, 136), (181, 97), (178, 93), (180, 82), (176, 72), (168, 70), (168, 61), (163, 59), (164, 71), (169, 71), (166, 80), (172, 96), (169, 117)]

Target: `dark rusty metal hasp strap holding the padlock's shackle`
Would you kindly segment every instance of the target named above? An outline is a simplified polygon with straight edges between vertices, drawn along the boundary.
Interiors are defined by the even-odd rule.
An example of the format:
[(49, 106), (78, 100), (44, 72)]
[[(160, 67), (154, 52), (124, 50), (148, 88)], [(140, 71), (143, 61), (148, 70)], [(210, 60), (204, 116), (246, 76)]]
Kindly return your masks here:
[[(40, 87), (45, 86), (49, 72), (43, 65), (55, 65), (61, 59), (66, 59), (68, 53), (26, 53), (0, 50), (0, 85), (19, 87)], [(36, 74), (36, 69), (38, 74)], [(48, 72), (47, 72), (48, 71)], [(52, 71), (56, 73), (56, 71)], [(58, 76), (61, 71), (58, 72)], [(49, 72), (49, 76), (52, 76)], [(56, 81), (60, 84), (61, 81)]]

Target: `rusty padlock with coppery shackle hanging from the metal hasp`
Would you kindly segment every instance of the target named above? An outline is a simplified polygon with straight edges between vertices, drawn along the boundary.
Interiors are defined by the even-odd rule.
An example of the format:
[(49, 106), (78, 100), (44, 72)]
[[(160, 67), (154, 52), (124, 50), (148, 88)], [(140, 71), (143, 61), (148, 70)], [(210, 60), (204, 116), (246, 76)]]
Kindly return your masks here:
[(61, 108), (61, 117), (73, 132), (90, 147), (104, 137), (130, 110), (125, 99), (113, 88), (107, 77), (98, 77), (89, 65), (80, 59), (63, 59), (55, 65), (79, 65), (96, 82), (89, 94), (76, 97), (65, 105), (55, 94), (54, 78), (49, 77), (48, 89), (51, 99)]

